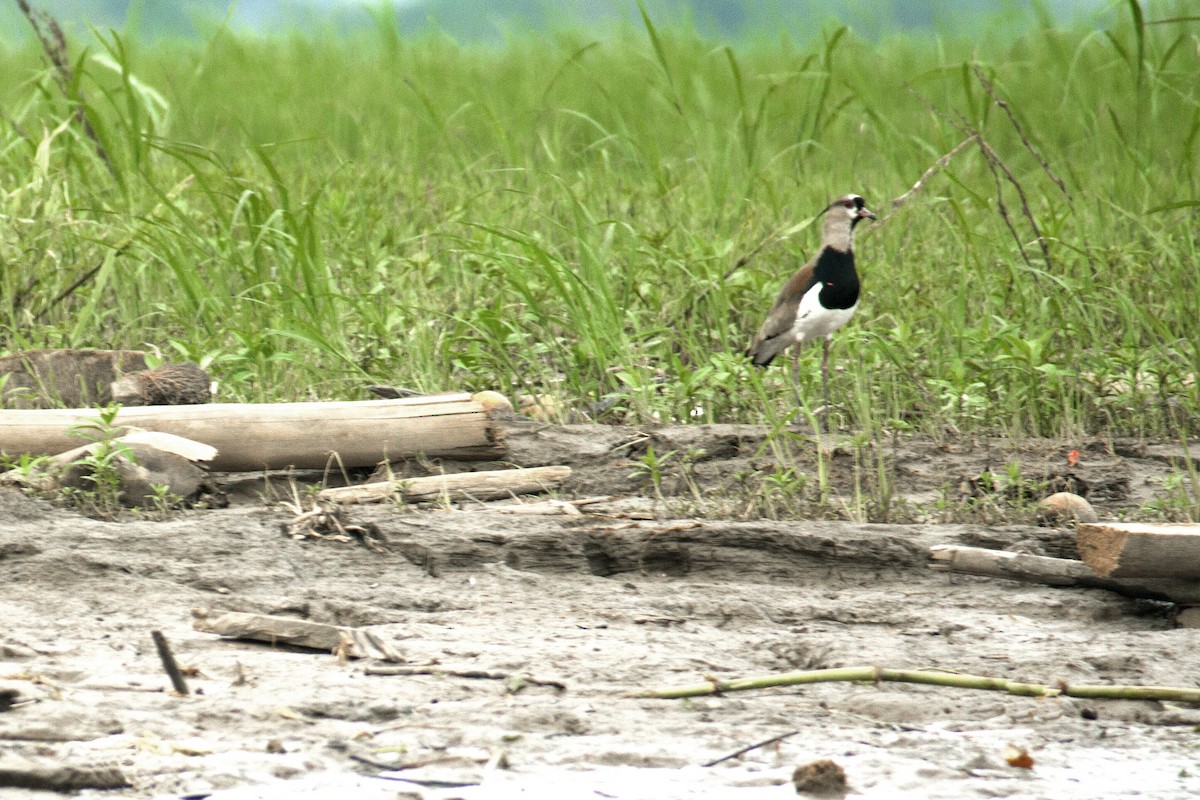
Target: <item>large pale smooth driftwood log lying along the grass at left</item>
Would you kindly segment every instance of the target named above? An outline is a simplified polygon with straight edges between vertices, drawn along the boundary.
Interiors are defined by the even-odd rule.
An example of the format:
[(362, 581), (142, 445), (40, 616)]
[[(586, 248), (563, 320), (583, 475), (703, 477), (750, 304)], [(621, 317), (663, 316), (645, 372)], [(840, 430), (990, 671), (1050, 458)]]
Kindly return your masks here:
[[(114, 422), (161, 431), (217, 449), (221, 471), (373, 467), (416, 455), (499, 458), (505, 453), (497, 407), (472, 395), (324, 403), (209, 403), (122, 408)], [(0, 452), (49, 456), (79, 445), (70, 428), (92, 409), (0, 410)]]

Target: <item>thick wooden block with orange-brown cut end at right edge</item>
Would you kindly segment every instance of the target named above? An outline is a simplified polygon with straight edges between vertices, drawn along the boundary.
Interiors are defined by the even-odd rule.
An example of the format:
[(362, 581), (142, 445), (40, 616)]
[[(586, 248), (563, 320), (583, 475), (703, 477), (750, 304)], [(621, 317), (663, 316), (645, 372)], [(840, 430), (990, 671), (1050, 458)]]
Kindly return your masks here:
[(1075, 528), (1079, 555), (1105, 578), (1200, 578), (1200, 525), (1094, 522)]

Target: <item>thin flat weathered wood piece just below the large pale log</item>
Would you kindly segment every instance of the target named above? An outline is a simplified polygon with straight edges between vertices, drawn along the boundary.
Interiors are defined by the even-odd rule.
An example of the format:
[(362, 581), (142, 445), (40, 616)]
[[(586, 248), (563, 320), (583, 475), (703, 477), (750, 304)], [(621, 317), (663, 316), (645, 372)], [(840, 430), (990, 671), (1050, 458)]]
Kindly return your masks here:
[(382, 503), (391, 499), (430, 503), (439, 498), (496, 500), (512, 494), (548, 492), (560, 486), (570, 475), (570, 467), (493, 469), (336, 487), (323, 489), (317, 497), (320, 500), (342, 504)]

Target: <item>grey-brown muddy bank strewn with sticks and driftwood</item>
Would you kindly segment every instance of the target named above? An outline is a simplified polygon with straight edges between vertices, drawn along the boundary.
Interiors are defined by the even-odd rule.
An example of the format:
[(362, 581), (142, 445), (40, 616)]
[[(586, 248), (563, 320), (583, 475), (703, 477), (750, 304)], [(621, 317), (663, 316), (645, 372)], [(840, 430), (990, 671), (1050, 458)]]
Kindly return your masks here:
[[(34, 764), (128, 783), (84, 796), (755, 800), (796, 796), (793, 769), (829, 758), (852, 798), (1200, 794), (1196, 708), (896, 684), (626, 697), (859, 664), (1196, 685), (1200, 630), (1175, 628), (1165, 603), (928, 567), (928, 548), (946, 542), (1069, 552), (1066, 531), (990, 524), (1014, 500), (1000, 487), (979, 506), (980, 473), (1015, 464), (1046, 485), (1069, 473), (1102, 518), (1145, 516), (1169, 512), (1181, 449), (847, 441), (826, 462), (832, 495), (805, 507), (854, 516), (866, 509), (856, 482), (860, 497), (863, 476), (883, 469), (887, 515), (916, 522), (688, 516), (761, 511), (754, 476), (780, 459), (763, 440), (734, 426), (527, 428), (511, 437), (514, 463), (571, 464), (563, 497), (617, 499), (581, 516), (350, 510), (378, 525), (378, 551), (284, 535), (292, 515), (263, 499), (259, 477), (223, 476), (228, 509), (157, 522), (89, 519), (2, 489), (0, 690), (19, 696), (0, 712), (0, 777)], [(661, 498), (644, 470), (630, 477), (647, 446), (690, 453), (662, 470)], [(815, 468), (809, 451), (790, 463)], [(199, 633), (193, 608), (366, 626), (431, 674)], [(151, 630), (193, 694), (169, 692)], [(1010, 745), (1032, 769), (1006, 763)]]

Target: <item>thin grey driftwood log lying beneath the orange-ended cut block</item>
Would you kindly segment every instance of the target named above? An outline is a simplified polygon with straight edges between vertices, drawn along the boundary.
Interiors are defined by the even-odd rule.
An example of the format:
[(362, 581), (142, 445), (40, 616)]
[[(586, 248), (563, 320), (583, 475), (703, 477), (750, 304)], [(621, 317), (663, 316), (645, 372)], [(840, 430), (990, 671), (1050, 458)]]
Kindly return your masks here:
[(1200, 582), (1172, 578), (1105, 578), (1082, 561), (1044, 555), (989, 551), (982, 547), (937, 545), (930, 548), (930, 567), (943, 572), (982, 575), (1050, 587), (1108, 589), (1127, 597), (1200, 603)]

